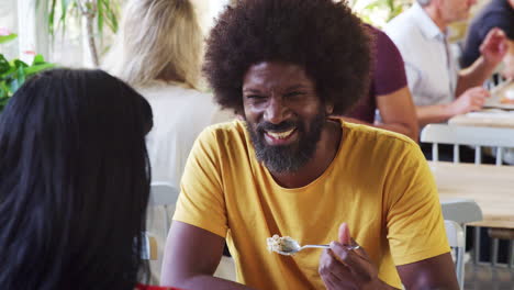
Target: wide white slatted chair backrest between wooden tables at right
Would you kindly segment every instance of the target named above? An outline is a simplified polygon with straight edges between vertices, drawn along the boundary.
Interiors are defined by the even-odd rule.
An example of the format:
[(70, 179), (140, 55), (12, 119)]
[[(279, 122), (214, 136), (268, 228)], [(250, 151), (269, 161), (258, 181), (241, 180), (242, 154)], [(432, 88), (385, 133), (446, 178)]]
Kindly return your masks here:
[(437, 144), (454, 145), (454, 161), (459, 161), (459, 145), (474, 146), (474, 163), (481, 163), (481, 147), (496, 147), (496, 165), (502, 164), (503, 148), (514, 147), (514, 129), (477, 127), (428, 124), (422, 130), (421, 141), (433, 143), (432, 156), (438, 160)]

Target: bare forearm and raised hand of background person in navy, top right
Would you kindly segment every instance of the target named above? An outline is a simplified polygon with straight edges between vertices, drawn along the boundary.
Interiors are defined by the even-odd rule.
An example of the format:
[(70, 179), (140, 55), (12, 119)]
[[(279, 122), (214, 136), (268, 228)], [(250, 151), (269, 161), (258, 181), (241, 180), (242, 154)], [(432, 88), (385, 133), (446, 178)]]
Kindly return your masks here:
[(481, 56), (470, 67), (459, 72), (456, 96), (469, 88), (482, 86), (502, 62), (507, 49), (505, 33), (500, 29), (492, 29), (480, 45)]

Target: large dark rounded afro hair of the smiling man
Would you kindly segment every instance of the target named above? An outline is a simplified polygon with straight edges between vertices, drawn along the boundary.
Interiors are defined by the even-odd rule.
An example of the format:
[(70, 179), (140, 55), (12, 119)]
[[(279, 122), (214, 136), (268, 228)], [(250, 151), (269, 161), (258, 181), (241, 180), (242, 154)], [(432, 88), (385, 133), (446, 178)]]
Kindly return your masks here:
[(203, 71), (223, 107), (243, 112), (252, 65), (300, 65), (323, 101), (342, 114), (368, 91), (369, 36), (346, 3), (333, 0), (239, 0), (220, 15)]

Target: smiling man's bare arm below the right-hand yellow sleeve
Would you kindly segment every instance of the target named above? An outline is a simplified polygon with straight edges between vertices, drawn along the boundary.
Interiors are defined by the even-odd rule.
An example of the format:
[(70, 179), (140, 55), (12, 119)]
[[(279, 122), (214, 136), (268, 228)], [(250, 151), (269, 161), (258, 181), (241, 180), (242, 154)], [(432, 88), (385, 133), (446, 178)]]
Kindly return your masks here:
[(449, 253), (396, 266), (396, 269), (405, 289), (459, 289), (455, 265)]

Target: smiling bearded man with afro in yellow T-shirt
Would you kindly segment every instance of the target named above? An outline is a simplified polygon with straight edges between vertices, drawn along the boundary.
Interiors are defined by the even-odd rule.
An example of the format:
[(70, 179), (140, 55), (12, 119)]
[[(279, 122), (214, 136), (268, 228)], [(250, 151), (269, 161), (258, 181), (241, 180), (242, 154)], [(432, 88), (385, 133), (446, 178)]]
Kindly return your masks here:
[[(163, 285), (457, 289), (435, 182), (418, 146), (333, 118), (367, 92), (365, 30), (332, 0), (239, 0), (220, 15), (204, 71), (217, 102), (244, 120), (206, 129), (191, 150)], [(301, 244), (334, 242), (280, 256), (267, 249), (275, 234)], [(212, 277), (225, 239), (237, 282)]]

